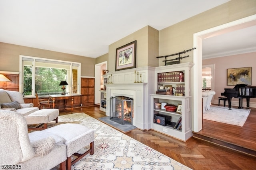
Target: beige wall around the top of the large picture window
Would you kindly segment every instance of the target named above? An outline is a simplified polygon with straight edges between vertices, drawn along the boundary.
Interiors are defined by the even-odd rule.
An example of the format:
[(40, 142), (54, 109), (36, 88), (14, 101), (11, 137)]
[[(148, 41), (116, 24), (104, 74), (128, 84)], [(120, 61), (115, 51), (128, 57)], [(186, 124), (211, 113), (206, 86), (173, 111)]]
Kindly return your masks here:
[(79, 62), (82, 65), (82, 76), (94, 76), (94, 58), (67, 53), (59, 53), (55, 51), (25, 47), (21, 45), (13, 45), (2, 42), (0, 42), (0, 71), (19, 72), (20, 55)]

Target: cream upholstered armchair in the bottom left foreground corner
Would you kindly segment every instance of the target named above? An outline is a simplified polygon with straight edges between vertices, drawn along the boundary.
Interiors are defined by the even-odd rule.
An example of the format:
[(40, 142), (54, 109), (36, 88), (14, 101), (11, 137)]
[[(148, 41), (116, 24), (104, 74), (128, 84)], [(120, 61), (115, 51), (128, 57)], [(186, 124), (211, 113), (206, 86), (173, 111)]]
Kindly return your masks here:
[(0, 125), (2, 168), (50, 170), (60, 164), (60, 168), (65, 169), (65, 144), (56, 144), (50, 135), (39, 140), (29, 138), (25, 118), (14, 111), (0, 109)]

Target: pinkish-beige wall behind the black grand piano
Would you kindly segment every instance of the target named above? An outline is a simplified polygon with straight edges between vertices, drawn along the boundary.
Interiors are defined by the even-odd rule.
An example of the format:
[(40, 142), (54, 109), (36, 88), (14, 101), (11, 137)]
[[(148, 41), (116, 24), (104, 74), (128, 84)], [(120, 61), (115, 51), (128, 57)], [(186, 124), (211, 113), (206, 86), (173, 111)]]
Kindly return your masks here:
[[(221, 96), (220, 93), (224, 92), (224, 88), (234, 87), (227, 85), (227, 69), (252, 67), (252, 86), (256, 86), (255, 56), (256, 52), (202, 60), (202, 65), (215, 64), (214, 91), (216, 95), (214, 95), (214, 100), (218, 100), (218, 97)], [(238, 101), (238, 99), (232, 99), (232, 101)], [(256, 99), (252, 98), (250, 102), (256, 102)]]

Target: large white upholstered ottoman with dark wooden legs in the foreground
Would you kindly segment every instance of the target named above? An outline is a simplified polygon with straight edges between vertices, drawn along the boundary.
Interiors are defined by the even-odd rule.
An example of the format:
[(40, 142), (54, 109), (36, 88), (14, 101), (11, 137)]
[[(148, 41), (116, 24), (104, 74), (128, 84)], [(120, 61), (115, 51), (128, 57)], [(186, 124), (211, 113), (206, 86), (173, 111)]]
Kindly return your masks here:
[[(71, 170), (71, 166), (86, 154), (94, 154), (94, 129), (89, 129), (79, 124), (67, 123), (58, 125), (56, 127), (51, 127), (43, 131), (56, 134), (64, 139), (64, 144), (67, 146), (67, 170)], [(89, 144), (90, 149), (84, 154), (76, 153)], [(77, 158), (71, 160), (72, 155), (77, 156)]]

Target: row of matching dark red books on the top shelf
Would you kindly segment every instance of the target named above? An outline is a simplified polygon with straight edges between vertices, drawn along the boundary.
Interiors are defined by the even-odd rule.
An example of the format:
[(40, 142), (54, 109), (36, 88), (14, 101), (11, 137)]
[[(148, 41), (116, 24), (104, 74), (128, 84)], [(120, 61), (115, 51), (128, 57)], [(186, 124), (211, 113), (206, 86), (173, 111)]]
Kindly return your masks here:
[(183, 82), (184, 73), (182, 71), (171, 71), (165, 73), (157, 73), (158, 83), (162, 82)]

